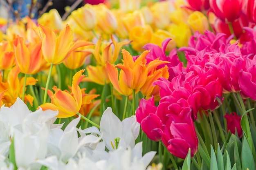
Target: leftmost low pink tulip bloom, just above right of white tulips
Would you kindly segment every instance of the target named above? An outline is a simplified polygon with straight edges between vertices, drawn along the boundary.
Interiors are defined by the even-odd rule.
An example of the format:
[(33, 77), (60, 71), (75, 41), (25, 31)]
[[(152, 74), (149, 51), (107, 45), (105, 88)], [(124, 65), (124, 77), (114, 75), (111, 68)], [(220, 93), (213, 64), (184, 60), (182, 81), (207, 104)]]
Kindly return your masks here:
[(153, 141), (160, 141), (163, 135), (163, 124), (155, 114), (156, 110), (154, 97), (148, 100), (141, 99), (135, 115), (141, 125), (141, 130), (147, 137)]

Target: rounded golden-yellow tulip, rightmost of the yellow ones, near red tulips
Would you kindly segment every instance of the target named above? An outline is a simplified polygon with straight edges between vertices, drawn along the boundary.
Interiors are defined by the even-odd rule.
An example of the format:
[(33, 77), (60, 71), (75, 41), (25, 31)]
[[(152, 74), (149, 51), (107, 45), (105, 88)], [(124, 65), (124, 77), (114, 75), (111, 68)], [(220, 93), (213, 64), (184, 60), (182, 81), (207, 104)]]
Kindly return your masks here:
[(193, 32), (199, 31), (200, 33), (204, 33), (204, 31), (209, 29), (206, 16), (199, 11), (195, 11), (189, 15), (188, 23)]

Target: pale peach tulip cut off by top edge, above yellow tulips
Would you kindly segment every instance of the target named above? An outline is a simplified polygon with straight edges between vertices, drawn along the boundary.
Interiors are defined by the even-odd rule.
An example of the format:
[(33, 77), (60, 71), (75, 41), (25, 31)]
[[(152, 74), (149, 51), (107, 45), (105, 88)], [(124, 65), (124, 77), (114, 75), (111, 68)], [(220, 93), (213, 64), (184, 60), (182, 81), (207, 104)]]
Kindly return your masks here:
[(119, 8), (124, 12), (136, 11), (140, 8), (141, 0), (119, 0)]

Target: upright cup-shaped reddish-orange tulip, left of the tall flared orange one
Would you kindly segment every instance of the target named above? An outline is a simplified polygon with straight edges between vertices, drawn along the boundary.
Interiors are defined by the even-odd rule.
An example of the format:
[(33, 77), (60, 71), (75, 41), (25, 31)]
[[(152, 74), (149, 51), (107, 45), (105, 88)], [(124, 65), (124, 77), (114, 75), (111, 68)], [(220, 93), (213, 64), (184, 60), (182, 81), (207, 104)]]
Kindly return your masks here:
[(15, 62), (20, 72), (25, 74), (35, 74), (39, 71), (43, 60), (41, 42), (36, 44), (25, 44), (23, 38), (17, 36), (13, 41)]

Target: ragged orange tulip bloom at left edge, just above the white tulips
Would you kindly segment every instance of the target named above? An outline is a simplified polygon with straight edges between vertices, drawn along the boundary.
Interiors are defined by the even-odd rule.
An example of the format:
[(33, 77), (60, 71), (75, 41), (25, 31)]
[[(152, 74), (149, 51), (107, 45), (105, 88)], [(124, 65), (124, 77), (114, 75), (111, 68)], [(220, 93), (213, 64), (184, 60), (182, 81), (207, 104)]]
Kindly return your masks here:
[[(24, 84), (24, 77), (21, 79), (18, 78), (20, 71), (17, 66), (14, 66), (8, 74), (7, 82), (0, 81), (0, 91), (6, 91), (2, 97), (2, 101), (5, 106), (10, 107), (16, 102), (17, 97), (22, 96), (22, 89)], [(2, 80), (2, 75), (0, 75), (0, 79)], [(27, 77), (26, 86), (27, 85), (35, 85), (37, 79), (34, 77)], [(24, 101), (29, 102), (31, 106), (33, 106), (34, 98), (31, 95), (25, 95)]]

